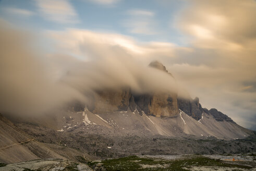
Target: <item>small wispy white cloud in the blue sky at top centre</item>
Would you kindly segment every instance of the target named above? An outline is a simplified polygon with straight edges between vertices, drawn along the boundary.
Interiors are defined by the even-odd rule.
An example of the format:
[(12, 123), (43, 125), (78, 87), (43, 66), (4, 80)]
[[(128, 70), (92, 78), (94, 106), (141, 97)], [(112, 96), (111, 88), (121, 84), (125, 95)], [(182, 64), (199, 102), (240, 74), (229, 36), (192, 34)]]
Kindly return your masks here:
[(129, 19), (123, 22), (123, 26), (129, 29), (129, 32), (136, 34), (153, 35), (156, 32), (156, 21), (153, 19), (153, 11), (144, 9), (131, 9), (127, 11)]

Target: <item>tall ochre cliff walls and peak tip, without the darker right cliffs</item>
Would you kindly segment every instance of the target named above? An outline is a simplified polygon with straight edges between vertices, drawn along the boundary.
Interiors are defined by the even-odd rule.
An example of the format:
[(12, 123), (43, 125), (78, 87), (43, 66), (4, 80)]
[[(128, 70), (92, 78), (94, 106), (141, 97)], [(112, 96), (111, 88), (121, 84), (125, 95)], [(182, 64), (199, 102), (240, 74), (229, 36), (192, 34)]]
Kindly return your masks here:
[[(152, 62), (151, 67), (168, 72), (161, 63)], [(170, 76), (172, 76), (170, 74)], [(138, 110), (142, 115), (161, 116), (175, 116), (178, 114), (177, 93), (159, 93), (152, 94), (135, 94), (130, 88), (123, 88), (118, 90), (104, 90), (96, 91), (92, 95), (92, 104), (88, 106), (92, 113), (109, 113), (116, 111), (131, 112)], [(81, 111), (84, 105), (75, 103), (72, 105), (74, 111)]]

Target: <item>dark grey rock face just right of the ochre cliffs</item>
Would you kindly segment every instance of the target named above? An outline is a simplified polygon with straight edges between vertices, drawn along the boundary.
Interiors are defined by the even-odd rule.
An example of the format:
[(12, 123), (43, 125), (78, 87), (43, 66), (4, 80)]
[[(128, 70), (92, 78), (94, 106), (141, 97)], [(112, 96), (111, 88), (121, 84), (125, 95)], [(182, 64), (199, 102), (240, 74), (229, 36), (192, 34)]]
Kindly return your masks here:
[(181, 111), (185, 112), (187, 115), (192, 118), (199, 120), (202, 118), (203, 109), (201, 104), (199, 103), (199, 98), (196, 97), (194, 99), (184, 99), (182, 97), (178, 97), (178, 107)]

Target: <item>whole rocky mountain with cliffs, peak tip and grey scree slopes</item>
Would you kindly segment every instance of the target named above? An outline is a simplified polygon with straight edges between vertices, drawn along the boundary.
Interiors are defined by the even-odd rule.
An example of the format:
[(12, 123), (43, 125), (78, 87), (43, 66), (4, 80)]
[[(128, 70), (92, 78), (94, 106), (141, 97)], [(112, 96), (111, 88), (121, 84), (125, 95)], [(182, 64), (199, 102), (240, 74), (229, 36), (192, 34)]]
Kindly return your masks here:
[[(159, 62), (150, 67), (173, 77)], [(4, 116), (3, 116), (4, 115)], [(253, 153), (255, 132), (175, 91), (95, 90), (44, 116), (0, 116), (0, 162), (63, 158), (75, 162), (127, 155)]]

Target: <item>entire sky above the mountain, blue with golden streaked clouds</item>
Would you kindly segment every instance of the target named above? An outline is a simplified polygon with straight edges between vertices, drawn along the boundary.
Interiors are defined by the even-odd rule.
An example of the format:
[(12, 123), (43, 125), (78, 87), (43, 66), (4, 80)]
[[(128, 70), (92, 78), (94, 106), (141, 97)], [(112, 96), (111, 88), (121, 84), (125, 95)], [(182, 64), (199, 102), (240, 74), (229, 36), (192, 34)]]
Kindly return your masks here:
[[(105, 78), (99, 74), (93, 75), (97, 79), (77, 81), (84, 75), (91, 78), (88, 72), (93, 70), (92, 66), (111, 75), (114, 80), (108, 81), (108, 86), (127, 81), (135, 89), (142, 89), (135, 80), (144, 78), (144, 72), (151, 73), (146, 66), (152, 60), (159, 60), (192, 98), (199, 97), (203, 107), (217, 108), (239, 125), (256, 130), (255, 16), (256, 1), (253, 0), (2, 0), (2, 44), (10, 43), (2, 52), (22, 54), (26, 60), (14, 59), (16, 65), (10, 66), (22, 70), (24, 63), (24, 68), (32, 70), (27, 82), (34, 83), (32, 80), (45, 70), (47, 74), (40, 78), (56, 80), (69, 70), (75, 73), (76, 77), (65, 80), (69, 85), (73, 82), (70, 87), (74, 89), (36, 79), (38, 87), (31, 90), (27, 84), (17, 81), (21, 77), (17, 72), (14, 83), (43, 96), (41, 104), (48, 97), (44, 91), (38, 92), (39, 87), (57, 93), (61, 99), (67, 99), (70, 94), (82, 99), (77, 90), (84, 84), (87, 88), (95, 87)], [(22, 35), (5, 27), (22, 31)], [(17, 45), (11, 44), (13, 42)], [(32, 52), (20, 50), (20, 44), (23, 47), (28, 42)], [(34, 53), (39, 57), (34, 57)], [(14, 60), (4, 59), (4, 62), (13, 64)], [(90, 70), (84, 70), (82, 64), (92, 60), (97, 63), (87, 66)], [(1, 67), (11, 70), (11, 67)], [(143, 69), (138, 71), (138, 68)], [(116, 76), (117, 70), (121, 76)], [(152, 82), (148, 77), (145, 80)], [(172, 80), (157, 82), (172, 84)], [(153, 84), (153, 87), (159, 86)]]

